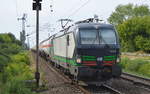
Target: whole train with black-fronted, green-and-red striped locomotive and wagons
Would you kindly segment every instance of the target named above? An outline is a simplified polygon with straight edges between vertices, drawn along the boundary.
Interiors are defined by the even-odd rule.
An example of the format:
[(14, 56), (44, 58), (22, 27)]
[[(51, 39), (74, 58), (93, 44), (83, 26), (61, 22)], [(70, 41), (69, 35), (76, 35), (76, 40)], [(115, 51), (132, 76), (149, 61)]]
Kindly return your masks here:
[(40, 43), (40, 55), (78, 81), (120, 77), (120, 43), (111, 24), (79, 21)]

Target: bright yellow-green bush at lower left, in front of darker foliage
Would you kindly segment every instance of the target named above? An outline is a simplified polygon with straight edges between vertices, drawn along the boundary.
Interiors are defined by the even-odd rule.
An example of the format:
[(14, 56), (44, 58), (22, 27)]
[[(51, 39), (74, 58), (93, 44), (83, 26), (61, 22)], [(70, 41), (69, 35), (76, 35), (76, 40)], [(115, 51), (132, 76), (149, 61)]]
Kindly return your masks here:
[(0, 94), (33, 94), (25, 85), (25, 80), (33, 79), (28, 53), (21, 52), (11, 56), (11, 61), (0, 73)]

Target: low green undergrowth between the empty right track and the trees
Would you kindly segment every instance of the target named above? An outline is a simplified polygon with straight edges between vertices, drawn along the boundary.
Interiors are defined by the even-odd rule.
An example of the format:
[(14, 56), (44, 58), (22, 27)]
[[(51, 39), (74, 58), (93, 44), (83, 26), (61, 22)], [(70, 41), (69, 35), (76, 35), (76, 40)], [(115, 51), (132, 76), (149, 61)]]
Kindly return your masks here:
[(144, 58), (130, 59), (124, 57), (120, 63), (125, 72), (150, 78), (150, 61)]

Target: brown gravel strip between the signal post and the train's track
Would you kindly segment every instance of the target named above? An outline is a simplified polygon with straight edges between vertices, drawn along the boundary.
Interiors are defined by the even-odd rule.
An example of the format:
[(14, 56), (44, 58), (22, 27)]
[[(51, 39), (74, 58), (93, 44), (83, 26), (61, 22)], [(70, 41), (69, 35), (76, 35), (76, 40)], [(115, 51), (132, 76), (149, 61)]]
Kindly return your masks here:
[[(32, 53), (33, 58), (35, 54)], [(46, 82), (48, 90), (41, 92), (41, 94), (84, 94), (79, 88), (71, 85), (71, 81), (65, 79), (53, 68), (48, 67), (45, 60), (39, 58), (39, 69), (42, 73), (42, 80)]]

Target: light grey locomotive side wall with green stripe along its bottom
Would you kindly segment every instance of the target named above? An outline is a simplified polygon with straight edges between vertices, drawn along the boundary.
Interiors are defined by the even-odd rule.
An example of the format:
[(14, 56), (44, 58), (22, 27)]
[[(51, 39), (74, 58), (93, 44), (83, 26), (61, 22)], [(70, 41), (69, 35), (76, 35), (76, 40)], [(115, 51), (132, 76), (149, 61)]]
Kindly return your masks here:
[[(67, 44), (67, 36), (69, 36), (69, 45)], [(68, 65), (71, 64), (70, 62), (74, 59), (75, 39), (73, 32), (54, 38), (53, 47), (54, 61), (58, 65), (68, 69)]]

